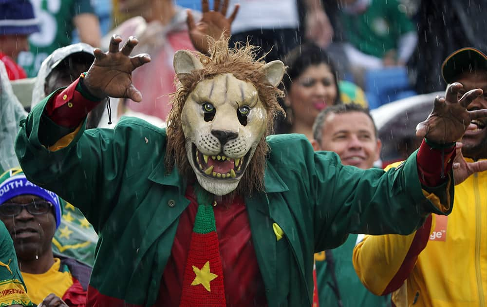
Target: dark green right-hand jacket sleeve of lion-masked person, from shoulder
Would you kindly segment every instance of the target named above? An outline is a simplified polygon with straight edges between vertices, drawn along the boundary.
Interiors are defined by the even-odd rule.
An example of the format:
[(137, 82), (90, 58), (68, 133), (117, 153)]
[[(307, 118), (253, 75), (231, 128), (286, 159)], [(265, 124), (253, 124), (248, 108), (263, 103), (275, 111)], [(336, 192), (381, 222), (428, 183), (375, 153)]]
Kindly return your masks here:
[(336, 153), (314, 152), (304, 136), (274, 136), (269, 143), (271, 161), (290, 189), (286, 197), (289, 203), (299, 204), (294, 214), (304, 221), (307, 235), (314, 236), (315, 251), (339, 246), (349, 233), (409, 234), (429, 212), (451, 211), (453, 187), (434, 189), (438, 194), (450, 193), (440, 197), (450, 202), (444, 204), (446, 212), (424, 196), (416, 153), (400, 167), (384, 172), (344, 166)]

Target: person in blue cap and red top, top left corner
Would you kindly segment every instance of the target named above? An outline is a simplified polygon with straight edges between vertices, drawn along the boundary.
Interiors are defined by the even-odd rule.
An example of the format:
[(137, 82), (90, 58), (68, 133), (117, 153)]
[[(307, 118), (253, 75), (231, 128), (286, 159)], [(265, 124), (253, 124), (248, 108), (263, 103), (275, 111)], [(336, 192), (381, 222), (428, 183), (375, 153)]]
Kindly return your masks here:
[(39, 32), (37, 23), (28, 0), (0, 0), (0, 61), (5, 64), (10, 80), (27, 77), (16, 59), (21, 51), (29, 50), (27, 38)]

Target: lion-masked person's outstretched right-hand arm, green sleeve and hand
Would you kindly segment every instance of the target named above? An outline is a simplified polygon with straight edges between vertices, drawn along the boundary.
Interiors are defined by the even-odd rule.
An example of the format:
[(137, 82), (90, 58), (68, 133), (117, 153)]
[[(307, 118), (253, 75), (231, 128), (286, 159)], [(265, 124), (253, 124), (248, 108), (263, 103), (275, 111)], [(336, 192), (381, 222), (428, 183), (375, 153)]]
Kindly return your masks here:
[[(487, 110), (468, 111), (470, 102), (482, 90), (469, 91), (461, 98), (459, 83), (453, 83), (446, 97), (437, 97), (428, 118), (417, 127), (426, 136), (419, 151), (399, 167), (360, 171), (356, 168), (321, 161), (316, 154), (311, 182), (316, 195), (315, 243), (320, 251), (330, 246), (330, 237), (342, 240), (347, 233), (410, 234), (423, 225), (428, 213), (448, 214), (453, 204), (451, 171), (455, 141), (460, 139), (474, 118), (487, 116)], [(326, 183), (326, 184), (325, 184)]]

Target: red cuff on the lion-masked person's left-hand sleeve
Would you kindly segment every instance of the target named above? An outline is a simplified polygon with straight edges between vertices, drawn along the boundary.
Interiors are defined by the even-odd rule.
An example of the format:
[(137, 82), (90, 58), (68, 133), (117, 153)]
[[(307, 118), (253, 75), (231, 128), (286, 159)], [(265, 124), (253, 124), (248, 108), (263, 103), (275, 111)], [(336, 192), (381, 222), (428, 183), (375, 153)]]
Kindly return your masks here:
[(61, 92), (54, 94), (46, 104), (46, 114), (57, 125), (77, 127), (99, 101), (92, 101), (76, 90), (79, 78)]

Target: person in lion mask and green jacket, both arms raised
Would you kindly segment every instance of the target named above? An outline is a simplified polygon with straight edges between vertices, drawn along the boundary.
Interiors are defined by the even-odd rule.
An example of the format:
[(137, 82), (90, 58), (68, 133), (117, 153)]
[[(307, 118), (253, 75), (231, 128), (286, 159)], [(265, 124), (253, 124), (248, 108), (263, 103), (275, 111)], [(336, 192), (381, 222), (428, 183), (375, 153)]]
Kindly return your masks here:
[(99, 232), (87, 306), (311, 306), (315, 252), (348, 233), (408, 234), (451, 211), (455, 141), (487, 115), (467, 110), (481, 90), (458, 99), (453, 84), (400, 167), (343, 166), (303, 135), (267, 137), (284, 65), (222, 39), (208, 56), (176, 53), (167, 129), (127, 117), (85, 131), (104, 97), (141, 100), (131, 72), (150, 58), (130, 57), (136, 38), (121, 41), (37, 105), (16, 141), (29, 180)]

